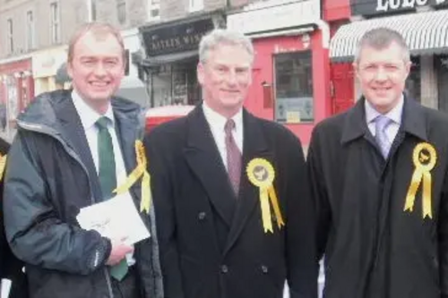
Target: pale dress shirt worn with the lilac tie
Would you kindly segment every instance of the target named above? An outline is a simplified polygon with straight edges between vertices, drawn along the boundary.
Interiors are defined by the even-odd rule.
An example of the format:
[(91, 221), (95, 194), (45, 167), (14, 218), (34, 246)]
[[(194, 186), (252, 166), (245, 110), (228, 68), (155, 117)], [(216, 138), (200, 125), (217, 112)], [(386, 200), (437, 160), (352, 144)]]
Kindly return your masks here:
[[(367, 126), (369, 131), (372, 132), (372, 135), (375, 137), (376, 135), (375, 120), (377, 116), (382, 114), (376, 111), (375, 107), (372, 106), (367, 100), (365, 101), (365, 103), (366, 103), (365, 108), (366, 108)], [(393, 140), (395, 140), (395, 137), (397, 136), (397, 133), (400, 129), (401, 115), (403, 114), (403, 105), (404, 105), (404, 97), (401, 96), (401, 99), (398, 102), (397, 106), (394, 106), (392, 110), (390, 110), (387, 114), (384, 115), (392, 120), (392, 123), (390, 123), (385, 129), (387, 139), (391, 144)]]

